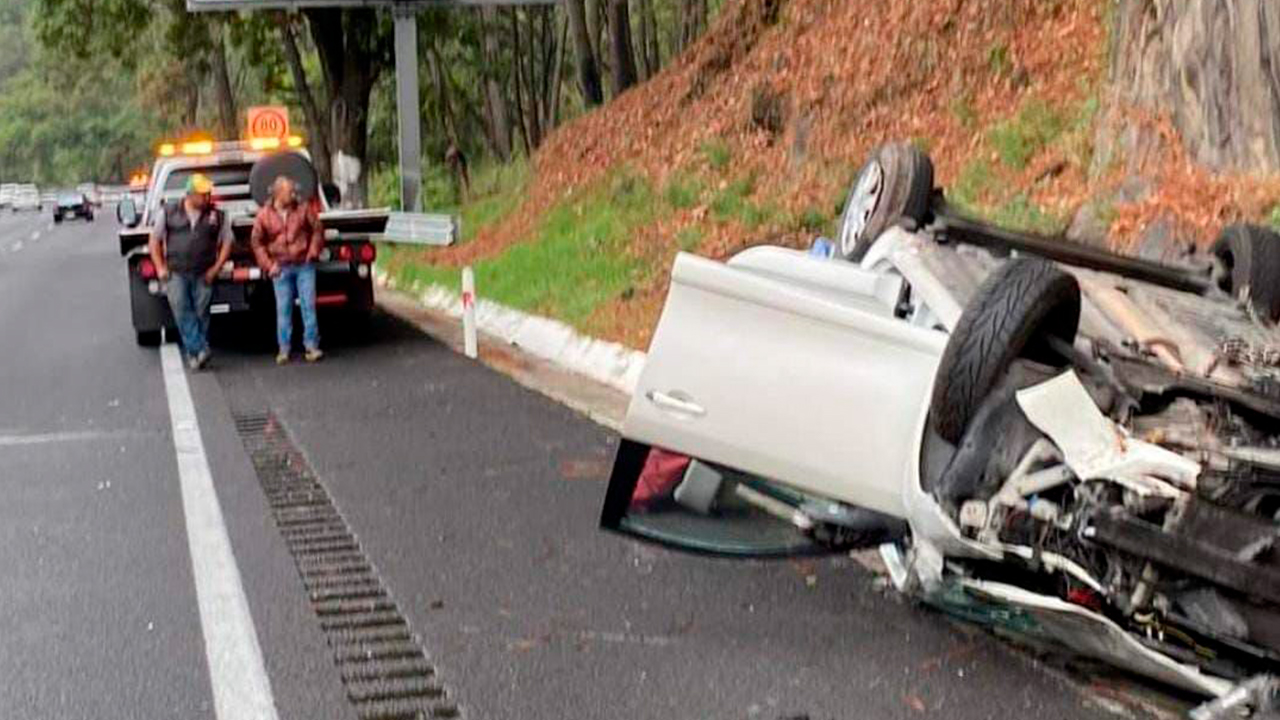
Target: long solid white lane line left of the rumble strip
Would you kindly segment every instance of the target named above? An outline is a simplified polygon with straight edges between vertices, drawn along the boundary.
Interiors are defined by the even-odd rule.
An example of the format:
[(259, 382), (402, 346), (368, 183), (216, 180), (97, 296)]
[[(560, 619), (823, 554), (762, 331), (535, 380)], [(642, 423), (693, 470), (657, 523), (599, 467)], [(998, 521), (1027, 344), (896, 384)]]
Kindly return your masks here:
[(178, 456), (182, 510), (187, 518), (187, 546), (196, 577), (205, 657), (219, 720), (276, 720), (271, 680), (266, 676), (248, 598), (227, 534), (214, 477), (200, 438), (196, 406), (174, 345), (160, 348), (173, 448)]

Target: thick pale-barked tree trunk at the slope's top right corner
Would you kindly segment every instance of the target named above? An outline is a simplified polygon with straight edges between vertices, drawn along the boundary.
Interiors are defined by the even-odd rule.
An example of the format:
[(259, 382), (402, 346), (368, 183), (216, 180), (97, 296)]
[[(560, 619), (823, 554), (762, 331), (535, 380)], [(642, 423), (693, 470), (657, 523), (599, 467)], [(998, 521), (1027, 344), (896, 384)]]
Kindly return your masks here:
[(1120, 105), (1167, 113), (1210, 168), (1280, 170), (1280, 3), (1121, 0), (1115, 18)]

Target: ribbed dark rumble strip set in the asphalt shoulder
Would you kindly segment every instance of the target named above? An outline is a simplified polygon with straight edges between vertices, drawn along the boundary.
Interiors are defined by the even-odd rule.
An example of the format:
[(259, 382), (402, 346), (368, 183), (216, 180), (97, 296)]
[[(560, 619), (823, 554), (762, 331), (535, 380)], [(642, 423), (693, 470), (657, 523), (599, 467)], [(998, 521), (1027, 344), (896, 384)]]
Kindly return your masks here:
[(360, 539), (271, 414), (237, 415), (275, 527), (361, 720), (458, 717)]

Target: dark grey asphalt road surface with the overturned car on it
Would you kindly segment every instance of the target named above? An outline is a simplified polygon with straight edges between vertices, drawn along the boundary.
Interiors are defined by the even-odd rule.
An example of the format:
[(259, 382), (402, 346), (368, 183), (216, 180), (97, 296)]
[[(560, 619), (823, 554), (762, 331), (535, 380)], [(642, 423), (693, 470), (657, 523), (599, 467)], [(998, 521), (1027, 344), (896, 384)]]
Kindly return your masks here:
[[(114, 231), (0, 214), (0, 717), (215, 717), (160, 361), (133, 343)], [(847, 557), (604, 534), (611, 432), (390, 316), (323, 333), (324, 363), (276, 368), (269, 334), (223, 323), (189, 379), (282, 717), (356, 711), (237, 436), (265, 413), (463, 717), (1107, 716)]]

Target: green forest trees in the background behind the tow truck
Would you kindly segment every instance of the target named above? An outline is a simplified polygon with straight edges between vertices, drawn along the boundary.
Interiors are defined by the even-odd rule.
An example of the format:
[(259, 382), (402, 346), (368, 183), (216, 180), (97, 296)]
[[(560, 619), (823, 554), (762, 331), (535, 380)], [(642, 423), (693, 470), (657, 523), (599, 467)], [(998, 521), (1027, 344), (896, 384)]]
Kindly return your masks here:
[[(658, 72), (707, 12), (708, 0), (422, 10), (425, 159), (439, 167), (451, 147), (500, 161), (531, 152), (605, 91)], [(384, 10), (188, 14), (183, 0), (9, 0), (0, 177), (119, 181), (161, 137), (234, 135), (238, 113), (260, 102), (294, 110), (323, 174), (340, 151), (367, 176), (397, 155), (392, 49)]]

